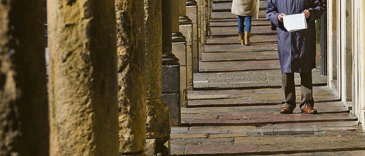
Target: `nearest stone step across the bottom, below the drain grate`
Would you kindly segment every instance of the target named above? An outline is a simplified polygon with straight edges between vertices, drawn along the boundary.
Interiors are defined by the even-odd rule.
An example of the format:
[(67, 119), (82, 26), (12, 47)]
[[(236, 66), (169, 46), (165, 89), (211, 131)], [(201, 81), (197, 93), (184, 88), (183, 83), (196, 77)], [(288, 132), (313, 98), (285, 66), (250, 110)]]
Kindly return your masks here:
[[(301, 129), (315, 130), (315, 128)], [(364, 134), (349, 130), (322, 130), (322, 132), (322, 136), (312, 137), (305, 137), (304, 135), (302, 137), (298, 137), (298, 135), (252, 137), (239, 133), (218, 133), (207, 134), (201, 138), (179, 138), (177, 136), (198, 136), (198, 134), (176, 134), (174, 136), (177, 138), (171, 140), (172, 155), (309, 155), (309, 153), (315, 155), (364, 155), (365, 146), (362, 144), (365, 141)]]

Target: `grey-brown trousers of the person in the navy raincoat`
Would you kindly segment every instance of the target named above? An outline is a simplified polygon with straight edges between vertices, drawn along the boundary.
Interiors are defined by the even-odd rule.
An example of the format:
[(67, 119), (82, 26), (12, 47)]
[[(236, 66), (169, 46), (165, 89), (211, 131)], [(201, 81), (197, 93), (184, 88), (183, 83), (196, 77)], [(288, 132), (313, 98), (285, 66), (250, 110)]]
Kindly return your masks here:
[[(294, 83), (294, 73), (282, 73), (282, 86), (281, 91), (283, 93), (283, 102), (281, 102), (283, 107), (289, 107), (294, 109), (296, 107), (295, 98), (295, 83)], [(314, 106), (313, 100), (313, 86), (312, 86), (312, 72), (300, 73), (300, 89), (301, 89), (301, 102), (300, 109), (303, 110), (304, 107), (309, 104)]]

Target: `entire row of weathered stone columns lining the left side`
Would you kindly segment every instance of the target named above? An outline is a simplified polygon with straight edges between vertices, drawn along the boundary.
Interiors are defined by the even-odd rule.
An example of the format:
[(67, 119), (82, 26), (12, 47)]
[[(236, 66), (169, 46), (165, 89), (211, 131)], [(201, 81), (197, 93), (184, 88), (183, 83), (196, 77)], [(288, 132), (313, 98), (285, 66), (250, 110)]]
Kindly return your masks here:
[(42, 4), (0, 4), (0, 155), (170, 155), (200, 4), (48, 0), (48, 77)]

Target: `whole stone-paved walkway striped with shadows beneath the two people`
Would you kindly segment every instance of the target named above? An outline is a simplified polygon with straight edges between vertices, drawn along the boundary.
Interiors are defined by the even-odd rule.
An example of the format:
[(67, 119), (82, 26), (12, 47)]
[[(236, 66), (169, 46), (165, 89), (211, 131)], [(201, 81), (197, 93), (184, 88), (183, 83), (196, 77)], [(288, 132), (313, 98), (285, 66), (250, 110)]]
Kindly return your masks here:
[[(319, 114), (301, 114), (299, 108), (279, 114), (276, 31), (261, 13), (253, 20), (252, 46), (241, 46), (230, 6), (214, 1), (214, 38), (201, 55), (196, 90), (189, 91), (189, 106), (181, 110), (182, 126), (172, 127), (172, 155), (365, 155), (357, 118), (334, 98), (319, 70), (313, 71)], [(299, 87), (296, 93), (299, 102)]]

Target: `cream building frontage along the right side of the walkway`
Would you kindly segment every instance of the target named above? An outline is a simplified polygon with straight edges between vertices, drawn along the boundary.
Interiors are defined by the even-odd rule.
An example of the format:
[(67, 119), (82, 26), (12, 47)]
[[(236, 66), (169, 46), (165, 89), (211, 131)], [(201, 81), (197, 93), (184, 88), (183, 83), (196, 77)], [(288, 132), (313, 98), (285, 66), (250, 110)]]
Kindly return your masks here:
[(327, 75), (333, 93), (365, 128), (363, 0), (327, 1)]

